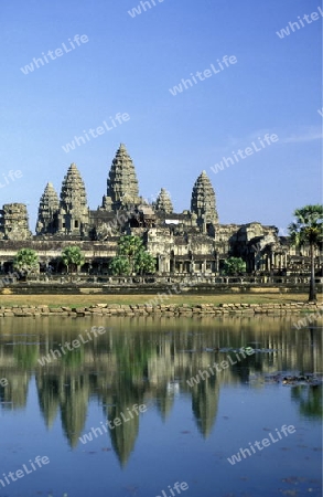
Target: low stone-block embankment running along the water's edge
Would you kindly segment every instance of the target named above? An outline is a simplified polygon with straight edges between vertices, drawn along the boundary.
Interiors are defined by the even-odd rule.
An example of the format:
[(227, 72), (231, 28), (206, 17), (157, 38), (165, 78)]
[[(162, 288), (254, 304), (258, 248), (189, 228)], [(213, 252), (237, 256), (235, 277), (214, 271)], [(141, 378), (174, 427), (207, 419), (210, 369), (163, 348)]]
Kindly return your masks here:
[(225, 314), (277, 314), (284, 315), (288, 313), (316, 313), (317, 317), (323, 311), (322, 303), (265, 303), (265, 304), (247, 304), (247, 303), (228, 303), (228, 304), (107, 304), (100, 303), (89, 306), (56, 306), (50, 307), (45, 304), (33, 305), (12, 305), (1, 306), (0, 317), (36, 317), (36, 316), (67, 316), (67, 317), (85, 317), (85, 316), (148, 316), (148, 315), (166, 315), (166, 316), (193, 316), (193, 315), (225, 315)]

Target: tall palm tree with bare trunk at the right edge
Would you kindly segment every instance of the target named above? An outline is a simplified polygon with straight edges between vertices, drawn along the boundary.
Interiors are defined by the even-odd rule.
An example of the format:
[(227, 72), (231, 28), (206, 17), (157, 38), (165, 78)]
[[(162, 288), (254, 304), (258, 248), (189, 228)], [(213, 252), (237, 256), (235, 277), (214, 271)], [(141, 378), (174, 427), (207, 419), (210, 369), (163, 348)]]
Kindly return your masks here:
[(295, 246), (310, 246), (311, 277), (309, 300), (316, 300), (315, 247), (322, 246), (323, 205), (305, 205), (293, 213), (295, 221), (289, 225), (291, 243)]

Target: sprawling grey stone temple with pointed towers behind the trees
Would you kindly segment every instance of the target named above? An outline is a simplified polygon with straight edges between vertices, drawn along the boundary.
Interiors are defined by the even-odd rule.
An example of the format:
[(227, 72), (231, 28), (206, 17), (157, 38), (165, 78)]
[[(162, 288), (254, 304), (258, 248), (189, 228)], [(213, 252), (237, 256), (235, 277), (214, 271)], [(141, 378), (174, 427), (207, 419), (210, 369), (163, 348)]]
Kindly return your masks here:
[[(149, 202), (139, 195), (136, 169), (125, 145), (120, 145), (108, 175), (100, 207), (90, 210), (86, 189), (75, 163), (63, 180), (60, 198), (51, 182), (40, 200), (36, 234), (29, 228), (26, 207), (3, 205), (0, 211), (0, 263), (8, 271), (22, 247), (36, 250), (47, 265), (71, 244), (82, 247), (84, 271), (105, 273), (116, 255), (121, 234), (143, 239), (157, 260), (159, 274), (218, 274), (228, 256), (240, 256), (248, 272), (286, 274), (308, 269), (309, 251), (301, 253), (279, 236), (273, 225), (259, 222), (220, 224), (215, 192), (203, 171), (196, 179), (191, 209), (173, 212), (170, 194), (161, 189)], [(319, 260), (317, 260), (319, 266)]]

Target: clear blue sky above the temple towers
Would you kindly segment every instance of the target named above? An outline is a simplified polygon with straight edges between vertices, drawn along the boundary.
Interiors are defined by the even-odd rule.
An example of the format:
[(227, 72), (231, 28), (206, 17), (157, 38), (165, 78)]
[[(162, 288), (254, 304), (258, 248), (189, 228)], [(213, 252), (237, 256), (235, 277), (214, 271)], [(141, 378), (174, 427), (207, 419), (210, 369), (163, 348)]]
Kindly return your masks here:
[[(152, 2), (153, 3), (153, 2)], [(152, 6), (151, 3), (151, 6)], [(47, 181), (60, 193), (71, 162), (96, 209), (120, 142), (140, 193), (160, 188), (190, 209), (206, 170), (222, 223), (286, 228), (295, 208), (321, 201), (322, 15), (280, 39), (277, 31), (319, 12), (314, 0), (138, 0), (1, 2), (0, 204), (24, 202), (32, 231)], [(21, 67), (68, 39), (88, 42), (23, 74)], [(224, 55), (237, 63), (173, 96), (170, 88)], [(41, 65), (39, 63), (39, 65)], [(62, 146), (127, 113), (130, 119), (66, 154)], [(211, 167), (257, 137), (279, 140), (214, 173)], [(8, 180), (10, 170), (23, 177)]]

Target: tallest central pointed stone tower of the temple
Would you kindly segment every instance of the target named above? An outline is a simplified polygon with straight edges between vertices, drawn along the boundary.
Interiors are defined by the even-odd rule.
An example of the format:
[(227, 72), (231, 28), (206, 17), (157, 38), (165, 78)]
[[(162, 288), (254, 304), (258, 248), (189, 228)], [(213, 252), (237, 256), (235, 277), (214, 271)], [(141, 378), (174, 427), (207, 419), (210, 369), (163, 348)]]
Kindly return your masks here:
[(140, 199), (134, 166), (125, 145), (121, 144), (112, 160), (103, 209), (116, 212), (129, 204), (138, 203)]

